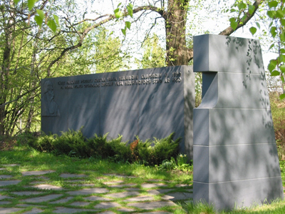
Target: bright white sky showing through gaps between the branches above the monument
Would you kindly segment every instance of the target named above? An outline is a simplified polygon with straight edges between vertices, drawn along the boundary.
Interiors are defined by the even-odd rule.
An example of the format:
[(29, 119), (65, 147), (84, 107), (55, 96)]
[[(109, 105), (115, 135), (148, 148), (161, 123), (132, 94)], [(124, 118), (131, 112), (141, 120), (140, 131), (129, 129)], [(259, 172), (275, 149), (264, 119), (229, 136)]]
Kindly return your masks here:
[[(145, 1), (145, 4), (147, 2), (152, 3), (154, 0), (134, 0), (133, 4), (135, 6), (142, 5), (142, 3)], [(198, 9), (193, 9), (190, 11), (190, 13), (187, 16), (187, 34), (192, 34), (193, 36), (204, 34), (204, 31), (207, 30), (211, 34), (219, 34), (220, 31), (226, 29), (229, 26), (229, 18), (233, 16), (233, 14), (225, 14), (222, 13), (222, 9), (224, 8), (224, 4), (227, 4), (227, 6), (230, 6), (234, 0), (229, 1), (215, 1), (215, 0), (202, 0), (203, 4), (202, 6), (199, 6)], [(89, 2), (89, 1), (88, 1)], [(118, 4), (122, 2), (122, 6), (124, 4), (128, 4), (128, 0), (94, 0), (93, 4), (90, 4), (90, 2), (84, 7), (88, 9), (88, 14), (86, 14), (86, 17), (88, 18), (94, 18), (98, 17), (98, 14), (113, 14), (113, 10), (117, 8)], [(191, 8), (197, 6), (197, 1), (190, 1)], [(159, 6), (159, 5), (157, 5)], [(96, 13), (95, 13), (96, 12)], [(135, 14), (134, 17), (138, 17), (137, 14)], [(147, 29), (150, 29), (151, 24), (153, 23), (153, 20), (157, 17), (157, 14), (152, 12), (147, 15), (147, 19), (144, 19), (142, 23), (137, 22), (133, 23), (131, 26), (130, 31), (127, 31), (127, 38), (123, 42), (123, 49), (128, 51), (133, 51), (133, 56), (137, 56), (138, 53), (140, 53), (141, 49), (141, 41), (144, 39), (145, 32)], [(135, 19), (135, 18), (134, 18)], [(133, 21), (134, 19), (125, 19), (125, 21)], [(234, 32), (231, 36), (237, 36), (237, 37), (244, 37), (249, 39), (257, 39), (257, 36), (259, 36), (259, 32), (257, 31), (257, 36), (252, 36), (252, 34), (249, 32), (249, 28), (251, 26), (255, 25), (255, 20), (257, 18), (252, 19), (249, 21), (249, 23), (244, 26), (242, 29), (239, 29), (238, 31)], [(193, 21), (194, 20), (194, 21)], [(120, 29), (124, 27), (124, 23), (121, 21), (119, 24), (115, 26), (110, 26), (110, 31), (114, 31), (114, 36), (119, 36), (120, 39), (123, 39), (124, 36)], [(261, 25), (261, 29), (264, 28)], [(164, 30), (164, 22), (162, 19), (157, 19), (157, 25), (152, 29), (152, 34), (155, 33), (157, 36), (160, 37), (161, 45), (165, 46), (165, 30)], [(268, 51), (268, 43), (261, 41), (261, 47), (263, 50), (263, 58), (264, 58), (264, 67), (267, 67), (267, 64), (269, 63), (269, 60), (271, 58), (276, 58), (276, 54), (272, 54), (270, 51)]]

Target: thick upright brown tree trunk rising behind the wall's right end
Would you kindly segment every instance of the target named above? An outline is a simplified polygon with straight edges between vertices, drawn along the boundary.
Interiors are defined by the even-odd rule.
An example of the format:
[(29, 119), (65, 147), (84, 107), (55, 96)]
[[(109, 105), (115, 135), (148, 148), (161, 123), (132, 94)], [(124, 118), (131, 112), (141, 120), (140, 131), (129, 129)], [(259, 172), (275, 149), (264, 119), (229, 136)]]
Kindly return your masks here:
[(189, 0), (169, 0), (164, 14), (166, 31), (166, 64), (180, 66), (188, 64), (186, 46), (186, 17)]

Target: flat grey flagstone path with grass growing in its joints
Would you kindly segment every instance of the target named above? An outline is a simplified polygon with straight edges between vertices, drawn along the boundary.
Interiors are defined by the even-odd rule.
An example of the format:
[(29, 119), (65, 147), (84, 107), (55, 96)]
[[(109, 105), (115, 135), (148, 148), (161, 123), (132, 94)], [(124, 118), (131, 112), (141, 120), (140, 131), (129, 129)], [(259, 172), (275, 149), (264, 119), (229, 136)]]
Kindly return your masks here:
[[(175, 202), (192, 200), (191, 185), (170, 185), (147, 180), (137, 185), (133, 176), (105, 174), (89, 179), (85, 174), (53, 170), (21, 172), (17, 179), (1, 165), (0, 214), (2, 213), (172, 213)], [(11, 174), (11, 173), (10, 173)], [(28, 180), (28, 182), (26, 181)], [(170, 187), (171, 186), (171, 187)]]

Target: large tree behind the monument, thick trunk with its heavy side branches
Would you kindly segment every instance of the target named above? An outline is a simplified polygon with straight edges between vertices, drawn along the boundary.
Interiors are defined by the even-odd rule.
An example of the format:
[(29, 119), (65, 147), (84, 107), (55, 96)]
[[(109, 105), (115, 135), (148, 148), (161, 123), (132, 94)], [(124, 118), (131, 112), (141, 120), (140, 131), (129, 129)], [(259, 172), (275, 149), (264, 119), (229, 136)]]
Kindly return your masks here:
[[(160, 14), (165, 21), (165, 35), (166, 35), (166, 63), (167, 66), (187, 65), (193, 58), (193, 49), (187, 48), (186, 41), (186, 19), (187, 10), (190, 0), (169, 0), (167, 4), (165, 1), (159, 1), (160, 6), (138, 6), (133, 9), (133, 13), (143, 10), (153, 11)], [(242, 18), (237, 17), (237, 26), (229, 26), (219, 34), (229, 36), (237, 29), (241, 28), (252, 19), (262, 1), (257, 0), (248, 4), (248, 9), (243, 10)], [(247, 4), (246, 4), (247, 5)]]

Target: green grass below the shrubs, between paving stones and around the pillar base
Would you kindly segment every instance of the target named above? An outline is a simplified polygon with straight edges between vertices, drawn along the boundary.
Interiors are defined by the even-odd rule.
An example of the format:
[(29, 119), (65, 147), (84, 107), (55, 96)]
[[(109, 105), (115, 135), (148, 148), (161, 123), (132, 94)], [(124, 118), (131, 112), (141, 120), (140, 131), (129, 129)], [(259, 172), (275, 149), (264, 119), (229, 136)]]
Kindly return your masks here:
[[(9, 190), (2, 191), (2, 195), (14, 196), (13, 204), (16, 205), (20, 203), (19, 200), (29, 198), (30, 196), (17, 196), (12, 195), (13, 191), (21, 190), (34, 190), (34, 188), (26, 188), (25, 186), (32, 181), (41, 181), (41, 178), (36, 178), (35, 176), (21, 176), (22, 171), (31, 170), (55, 170), (54, 173), (49, 173), (44, 175), (48, 177), (48, 183), (51, 185), (57, 185), (63, 188), (69, 188), (71, 190), (78, 190), (81, 187), (71, 186), (66, 180), (66, 178), (61, 178), (59, 175), (61, 173), (84, 173), (88, 175), (88, 180), (86, 183), (93, 183), (95, 186), (103, 187), (103, 181), (114, 181), (119, 180), (117, 177), (108, 176), (107, 180), (100, 180), (98, 178), (102, 177), (103, 174), (122, 174), (122, 175), (133, 175), (136, 178), (125, 179), (125, 183), (135, 183), (137, 187), (140, 187), (142, 183), (147, 183), (147, 180), (161, 180), (161, 183), (167, 183), (168, 188), (172, 188), (177, 184), (185, 183), (192, 184), (192, 173), (177, 172), (177, 170), (165, 171), (160, 170), (156, 167), (140, 165), (138, 163), (115, 163), (111, 160), (99, 160), (95, 158), (76, 158), (69, 156), (53, 156), (50, 153), (40, 153), (31, 148), (25, 147), (15, 147), (13, 151), (0, 151), (0, 168), (1, 165), (16, 163), (19, 166), (9, 167), (9, 172), (0, 170), (0, 175), (13, 175), (15, 180), (22, 180), (18, 185), (10, 186)], [(280, 161), (281, 165), (281, 176), (282, 180), (285, 180), (285, 161)], [(111, 193), (116, 193), (120, 189), (114, 188)], [(143, 189), (142, 189), (143, 191)], [(179, 190), (176, 190), (176, 192)], [(66, 197), (66, 193), (62, 190), (42, 190), (41, 195), (51, 194), (51, 193), (61, 193), (63, 198)], [(147, 194), (147, 192), (145, 192)], [(40, 195), (39, 195), (40, 196)], [(160, 199), (160, 195), (155, 196), (157, 200)], [(15, 199), (16, 198), (16, 199)], [(83, 201), (83, 196), (76, 196), (73, 198), (74, 201)], [(216, 213), (214, 208), (203, 203), (193, 205), (191, 201), (185, 202), (180, 201), (177, 203), (179, 206), (173, 210), (172, 207), (166, 208), (170, 213)], [(46, 205), (46, 203), (43, 203)], [(93, 204), (94, 205), (94, 204)], [(8, 205), (7, 205), (8, 206)], [(1, 207), (5, 207), (2, 205)], [(9, 205), (11, 207), (11, 204)], [(37, 207), (37, 205), (35, 205)], [(44, 213), (49, 213), (56, 205), (48, 204), (45, 208)], [(91, 207), (91, 205), (90, 205)], [(84, 208), (89, 208), (87, 205)], [(31, 207), (26, 208), (26, 210), (31, 210)], [(165, 210), (165, 209), (164, 209)], [(252, 208), (244, 208), (239, 210), (232, 210), (229, 212), (219, 212), (219, 213), (285, 213), (285, 202), (276, 201), (270, 205), (258, 205)]]

